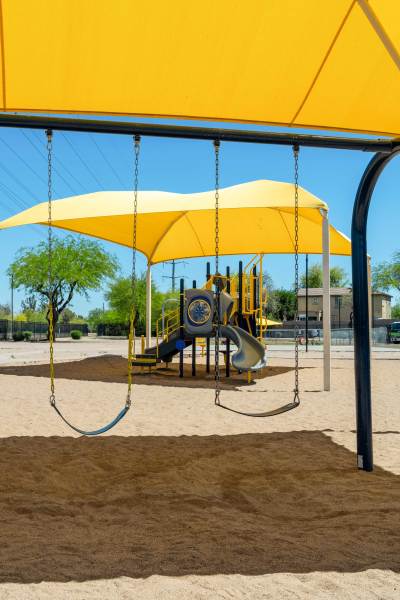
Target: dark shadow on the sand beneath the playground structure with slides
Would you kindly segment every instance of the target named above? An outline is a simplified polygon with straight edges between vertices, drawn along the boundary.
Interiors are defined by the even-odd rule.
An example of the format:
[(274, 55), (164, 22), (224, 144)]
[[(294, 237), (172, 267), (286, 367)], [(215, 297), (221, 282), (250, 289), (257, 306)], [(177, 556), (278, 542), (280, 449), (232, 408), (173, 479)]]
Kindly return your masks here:
[[(151, 372), (148, 369), (134, 369), (137, 383), (141, 385), (163, 385), (171, 387), (199, 387), (214, 388), (214, 367), (211, 372), (206, 373), (205, 365), (197, 365), (196, 377), (192, 377), (191, 364), (185, 363), (184, 378), (179, 377), (179, 366), (177, 363), (167, 369), (160, 365)], [(126, 383), (127, 360), (122, 356), (104, 355), (83, 360), (74, 360), (55, 365), (56, 377), (60, 379), (77, 379), (81, 381), (102, 381), (105, 383)], [(254, 374), (254, 379), (264, 379), (292, 371), (292, 367), (268, 367)], [(49, 365), (20, 365), (0, 367), (1, 375), (17, 375), (21, 377), (48, 377)], [(239, 374), (231, 370), (231, 377), (225, 377), (225, 367), (221, 366), (221, 387), (232, 389), (248, 386), (246, 373)]]

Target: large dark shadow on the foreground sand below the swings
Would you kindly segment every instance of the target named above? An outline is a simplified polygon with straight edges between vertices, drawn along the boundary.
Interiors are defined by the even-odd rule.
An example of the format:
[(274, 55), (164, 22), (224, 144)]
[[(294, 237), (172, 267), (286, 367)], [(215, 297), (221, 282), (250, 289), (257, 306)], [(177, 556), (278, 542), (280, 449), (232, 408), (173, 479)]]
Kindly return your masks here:
[(0, 581), (400, 571), (399, 477), (321, 432), (0, 440)]

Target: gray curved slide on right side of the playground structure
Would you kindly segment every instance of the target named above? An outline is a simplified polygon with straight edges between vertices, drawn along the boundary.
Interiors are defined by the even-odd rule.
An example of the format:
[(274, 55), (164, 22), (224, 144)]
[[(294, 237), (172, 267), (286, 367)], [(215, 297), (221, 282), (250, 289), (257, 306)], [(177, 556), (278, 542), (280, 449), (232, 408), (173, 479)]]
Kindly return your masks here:
[(237, 346), (232, 366), (238, 371), (258, 371), (267, 364), (264, 345), (241, 327), (221, 325), (221, 337), (229, 338)]

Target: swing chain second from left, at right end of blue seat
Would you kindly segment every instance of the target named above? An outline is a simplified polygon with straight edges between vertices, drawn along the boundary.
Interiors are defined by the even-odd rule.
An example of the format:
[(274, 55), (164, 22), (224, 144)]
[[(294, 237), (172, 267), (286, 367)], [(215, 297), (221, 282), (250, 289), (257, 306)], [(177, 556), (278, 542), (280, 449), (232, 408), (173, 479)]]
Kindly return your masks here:
[(134, 356), (134, 330), (135, 330), (135, 291), (136, 291), (136, 237), (137, 237), (137, 199), (139, 188), (139, 155), (140, 155), (140, 136), (134, 137), (134, 175), (133, 175), (133, 230), (132, 230), (132, 271), (131, 271), (131, 295), (132, 304), (129, 319), (129, 341), (128, 341), (128, 393), (126, 396), (125, 407), (129, 409), (132, 403), (132, 361)]

